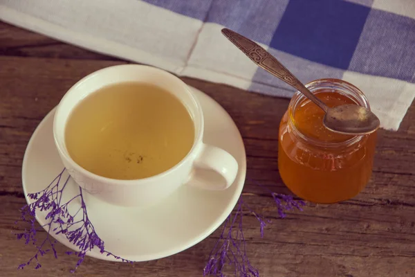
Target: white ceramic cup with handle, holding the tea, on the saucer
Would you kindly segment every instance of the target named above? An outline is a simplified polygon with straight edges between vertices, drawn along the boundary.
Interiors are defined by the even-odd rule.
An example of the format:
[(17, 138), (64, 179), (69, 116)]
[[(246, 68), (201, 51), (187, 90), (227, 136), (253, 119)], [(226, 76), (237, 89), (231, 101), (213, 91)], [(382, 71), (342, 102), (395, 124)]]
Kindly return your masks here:
[[(69, 156), (64, 138), (66, 123), (73, 109), (89, 94), (120, 82), (154, 84), (174, 94), (187, 107), (194, 123), (194, 144), (176, 166), (145, 179), (120, 180), (95, 175)], [(232, 185), (238, 172), (238, 163), (228, 152), (203, 143), (203, 113), (190, 88), (176, 76), (151, 66), (111, 66), (77, 82), (59, 102), (53, 121), (53, 136), (62, 162), (74, 181), (91, 195), (119, 206), (156, 204), (183, 184), (207, 190), (224, 190)]]

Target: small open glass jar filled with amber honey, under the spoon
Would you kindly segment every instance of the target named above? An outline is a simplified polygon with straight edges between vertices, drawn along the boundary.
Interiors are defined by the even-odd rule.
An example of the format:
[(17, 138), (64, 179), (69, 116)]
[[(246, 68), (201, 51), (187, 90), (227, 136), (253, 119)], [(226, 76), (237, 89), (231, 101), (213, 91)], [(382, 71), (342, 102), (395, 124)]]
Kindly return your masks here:
[[(362, 91), (343, 80), (320, 79), (306, 87), (323, 101), (323, 96), (335, 100), (344, 98), (370, 109)], [(324, 113), (315, 105), (303, 111), (305, 105), (314, 104), (297, 91), (279, 125), (278, 167), (284, 184), (298, 197), (316, 203), (334, 203), (354, 197), (371, 177), (376, 132), (365, 136), (332, 132), (337, 139), (321, 139), (316, 135), (317, 127), (313, 127), (317, 125), (308, 124), (306, 120), (315, 117), (313, 113), (317, 110)], [(300, 126), (299, 123), (304, 124)], [(330, 132), (322, 122), (320, 125), (319, 129)], [(332, 134), (326, 133), (325, 137)]]

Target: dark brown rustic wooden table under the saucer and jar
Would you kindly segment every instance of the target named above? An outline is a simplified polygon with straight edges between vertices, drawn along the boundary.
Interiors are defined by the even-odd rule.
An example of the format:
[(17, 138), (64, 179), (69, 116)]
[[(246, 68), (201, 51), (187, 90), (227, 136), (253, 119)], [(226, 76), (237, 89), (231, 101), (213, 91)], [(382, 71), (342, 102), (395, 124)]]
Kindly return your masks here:
[[(59, 258), (42, 258), (42, 268), (17, 271), (35, 249), (13, 231), (26, 204), (21, 163), (35, 127), (83, 76), (127, 63), (0, 22), (0, 270), (1, 276), (71, 276), (77, 262), (57, 245)], [(322, 76), (324, 77), (324, 76)], [(229, 112), (246, 145), (248, 178), (277, 193), (289, 193), (277, 168), (279, 120), (288, 99), (271, 98), (223, 84), (183, 78)], [(247, 181), (245, 201), (273, 219), (259, 235), (252, 215), (244, 221), (248, 256), (260, 276), (415, 276), (415, 104), (398, 132), (380, 130), (374, 175), (354, 199), (333, 205), (308, 204), (279, 220), (273, 199)], [(214, 242), (209, 238), (169, 258), (133, 265), (86, 258), (72, 276), (201, 276)], [(46, 233), (38, 234), (39, 239)]]

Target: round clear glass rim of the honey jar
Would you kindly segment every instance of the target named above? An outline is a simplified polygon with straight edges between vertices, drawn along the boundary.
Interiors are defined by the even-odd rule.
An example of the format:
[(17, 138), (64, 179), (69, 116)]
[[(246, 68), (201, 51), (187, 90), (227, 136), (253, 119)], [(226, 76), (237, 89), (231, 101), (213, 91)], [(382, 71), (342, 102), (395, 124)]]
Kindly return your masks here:
[[(338, 92), (344, 96), (347, 96), (347, 98), (351, 98), (351, 100), (356, 102), (357, 105), (360, 105), (370, 110), (369, 101), (367, 100), (365, 94), (362, 91), (360, 91), (358, 87), (356, 87), (355, 85), (347, 81), (335, 79), (335, 78), (323, 78), (323, 79), (317, 79), (317, 80), (308, 82), (307, 84), (305, 84), (305, 86), (312, 93), (319, 93), (323, 89), (330, 89), (330, 91), (334, 90), (335, 92)], [(367, 135), (352, 136), (350, 139), (347, 139), (345, 141), (320, 141), (310, 136), (306, 136), (306, 134), (303, 134), (301, 131), (299, 131), (299, 129), (295, 127), (295, 124), (294, 124), (295, 109), (299, 103), (301, 103), (303, 100), (306, 100), (306, 99), (307, 98), (306, 96), (304, 96), (303, 93), (296, 91), (294, 93), (293, 98), (291, 98), (290, 104), (288, 105), (289, 126), (293, 130), (293, 133), (299, 138), (301, 138), (302, 140), (308, 143), (311, 143), (317, 147), (338, 148), (338, 147), (347, 147), (349, 145), (358, 143), (358, 141), (361, 141), (364, 137), (367, 136)]]

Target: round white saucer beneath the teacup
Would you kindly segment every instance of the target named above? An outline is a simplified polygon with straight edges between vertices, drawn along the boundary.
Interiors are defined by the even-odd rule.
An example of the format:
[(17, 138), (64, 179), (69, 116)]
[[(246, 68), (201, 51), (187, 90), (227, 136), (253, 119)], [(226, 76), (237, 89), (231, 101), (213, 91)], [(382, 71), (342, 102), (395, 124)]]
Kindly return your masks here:
[[(183, 251), (208, 237), (237, 204), (246, 175), (246, 154), (241, 134), (217, 102), (197, 89), (194, 89), (194, 94), (201, 102), (205, 116), (203, 141), (223, 148), (237, 159), (237, 179), (230, 188), (222, 191), (182, 186), (165, 202), (149, 208), (113, 206), (86, 195), (87, 211), (95, 231), (104, 241), (105, 250), (116, 256), (139, 262)], [(64, 168), (53, 142), (54, 114), (55, 109), (42, 120), (26, 148), (22, 167), (25, 195), (44, 190)], [(71, 179), (68, 189), (64, 190), (64, 198), (75, 196), (76, 192), (77, 184)], [(26, 196), (26, 201), (31, 203), (33, 199)], [(37, 213), (37, 221), (41, 225), (48, 222), (43, 213)], [(66, 247), (77, 250), (64, 235), (51, 234)], [(112, 256), (101, 254), (98, 249), (87, 255), (117, 261)]]

